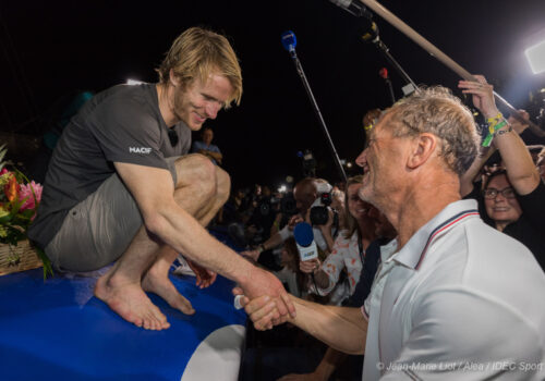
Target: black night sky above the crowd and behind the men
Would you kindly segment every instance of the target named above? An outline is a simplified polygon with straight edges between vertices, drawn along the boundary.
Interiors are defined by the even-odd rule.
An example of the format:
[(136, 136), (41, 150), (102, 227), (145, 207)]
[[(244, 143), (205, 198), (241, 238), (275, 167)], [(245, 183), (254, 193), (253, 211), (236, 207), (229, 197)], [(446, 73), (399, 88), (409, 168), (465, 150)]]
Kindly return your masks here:
[[(544, 0), (383, 0), (382, 4), (456, 62), (493, 82), (535, 116), (545, 76), (533, 75), (523, 50), (545, 38)], [(154, 72), (185, 28), (229, 36), (241, 60), (242, 105), (207, 122), (235, 184), (278, 184), (301, 176), (296, 151), (312, 149), (318, 175), (338, 180), (329, 148), (280, 35), (298, 37), (298, 56), (339, 156), (363, 147), (361, 119), (389, 106), (380, 67), (398, 98), (401, 77), (373, 45), (358, 40), (362, 21), (327, 0), (278, 1), (2, 1), (0, 130), (39, 135), (53, 105), (74, 89), (99, 91)], [(455, 88), (458, 76), (375, 15), (383, 41), (417, 84)]]

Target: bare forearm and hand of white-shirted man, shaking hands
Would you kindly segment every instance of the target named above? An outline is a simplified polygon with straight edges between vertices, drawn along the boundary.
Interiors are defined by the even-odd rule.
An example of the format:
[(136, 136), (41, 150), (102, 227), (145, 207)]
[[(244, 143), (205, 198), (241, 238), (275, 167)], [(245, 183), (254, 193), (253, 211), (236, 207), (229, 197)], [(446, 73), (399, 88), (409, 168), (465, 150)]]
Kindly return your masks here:
[[(234, 291), (240, 294), (240, 291)], [(295, 305), (296, 317), (289, 321), (300, 329), (323, 341), (327, 345), (353, 355), (361, 355), (365, 351), (367, 337), (367, 320), (360, 308), (324, 306), (306, 302), (290, 295)], [(254, 322), (257, 330), (271, 328), (272, 312), (276, 303), (268, 296), (254, 298), (251, 302), (242, 297), (241, 305)]]

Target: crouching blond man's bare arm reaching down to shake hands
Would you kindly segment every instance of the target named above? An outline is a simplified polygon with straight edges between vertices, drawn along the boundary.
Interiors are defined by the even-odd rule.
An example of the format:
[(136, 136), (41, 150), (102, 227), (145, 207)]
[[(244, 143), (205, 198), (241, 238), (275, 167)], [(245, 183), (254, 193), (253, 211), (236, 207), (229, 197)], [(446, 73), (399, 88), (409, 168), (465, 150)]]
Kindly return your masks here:
[(281, 315), (294, 308), (275, 275), (257, 269), (208, 232), (174, 200), (167, 170), (116, 162), (116, 170), (138, 205), (146, 229), (179, 253), (241, 285), (253, 297), (271, 295)]

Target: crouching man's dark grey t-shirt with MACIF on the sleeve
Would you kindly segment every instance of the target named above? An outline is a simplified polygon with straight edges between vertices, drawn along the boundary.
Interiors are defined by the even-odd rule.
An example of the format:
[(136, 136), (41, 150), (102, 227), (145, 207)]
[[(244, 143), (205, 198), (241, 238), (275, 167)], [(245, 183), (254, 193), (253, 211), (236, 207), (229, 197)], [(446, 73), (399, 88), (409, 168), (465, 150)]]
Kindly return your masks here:
[(155, 84), (119, 85), (96, 95), (64, 128), (49, 163), (41, 202), (28, 237), (45, 248), (68, 211), (114, 173), (113, 162), (168, 169), (165, 158), (191, 147), (191, 131), (172, 126), (172, 146)]

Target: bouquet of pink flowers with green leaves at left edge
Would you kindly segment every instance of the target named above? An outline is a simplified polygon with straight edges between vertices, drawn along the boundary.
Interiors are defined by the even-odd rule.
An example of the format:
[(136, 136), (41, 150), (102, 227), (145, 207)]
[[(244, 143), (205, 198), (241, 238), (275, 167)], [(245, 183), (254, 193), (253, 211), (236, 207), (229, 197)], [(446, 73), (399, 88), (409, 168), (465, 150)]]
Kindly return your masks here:
[[(21, 171), (10, 165), (10, 162), (3, 160), (7, 152), (4, 147), (0, 146), (0, 244), (3, 244), (0, 245), (3, 248), (0, 250), (0, 259), (4, 257), (3, 262), (8, 267), (20, 267), (24, 251), (17, 250), (16, 247), (26, 245), (28, 250), (41, 260), (46, 278), (48, 273), (52, 274), (49, 258), (37, 247), (31, 249), (26, 239), (28, 226), (36, 217), (41, 199), (41, 185), (29, 181)], [(13, 169), (8, 170), (8, 165)]]

